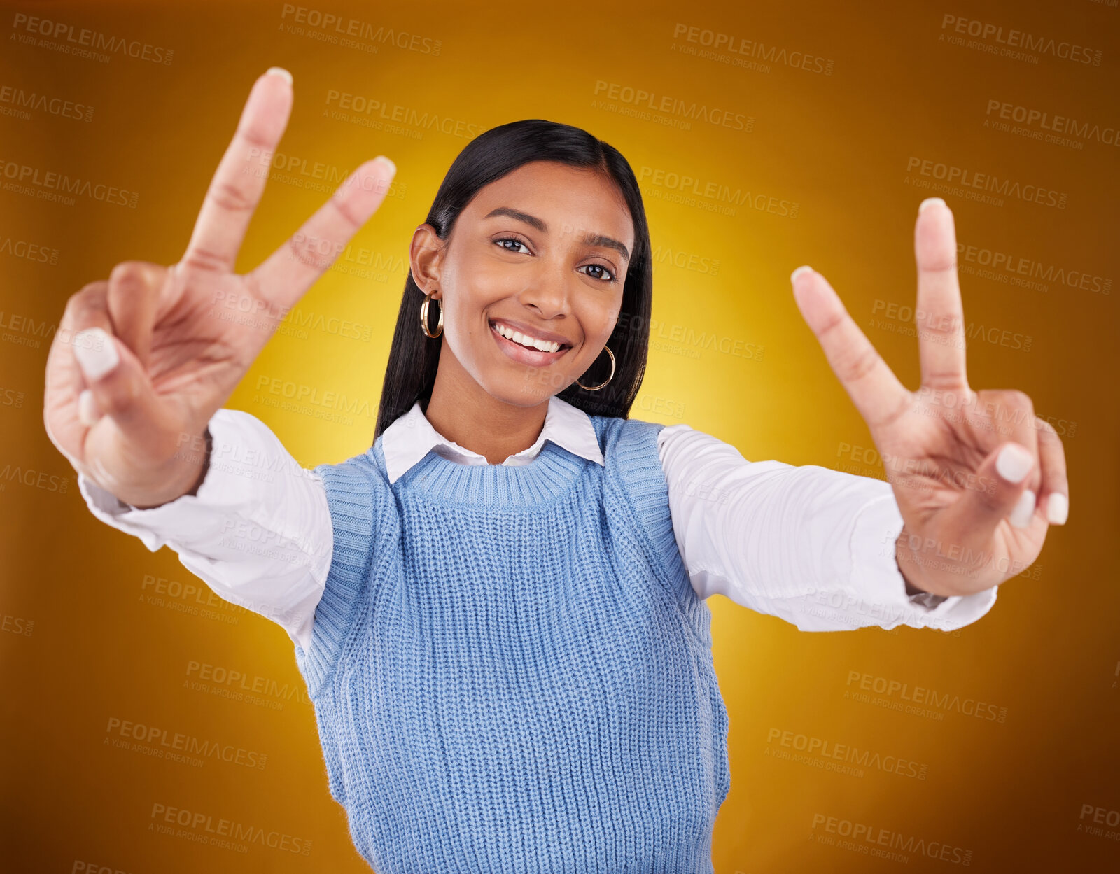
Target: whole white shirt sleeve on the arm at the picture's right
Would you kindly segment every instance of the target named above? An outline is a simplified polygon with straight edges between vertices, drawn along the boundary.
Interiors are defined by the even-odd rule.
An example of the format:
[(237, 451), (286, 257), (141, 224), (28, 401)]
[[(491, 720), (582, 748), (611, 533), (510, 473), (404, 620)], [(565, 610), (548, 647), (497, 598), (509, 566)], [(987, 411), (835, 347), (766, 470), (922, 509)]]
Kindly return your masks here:
[(890, 483), (813, 464), (747, 461), (687, 424), (657, 435), (676, 545), (700, 598), (722, 594), (802, 631), (898, 624), (952, 631), (987, 613), (972, 595), (909, 596), (895, 560)]

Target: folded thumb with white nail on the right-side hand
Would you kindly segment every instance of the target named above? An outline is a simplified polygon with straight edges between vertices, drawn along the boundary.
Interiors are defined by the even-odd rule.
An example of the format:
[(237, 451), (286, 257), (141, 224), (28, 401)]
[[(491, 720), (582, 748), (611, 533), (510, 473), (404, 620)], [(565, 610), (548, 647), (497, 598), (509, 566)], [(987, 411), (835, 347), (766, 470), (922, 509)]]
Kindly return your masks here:
[(959, 532), (962, 545), (972, 545), (989, 543), (1004, 519), (1017, 528), (1029, 527), (1036, 501), (1027, 482), (1037, 467), (1038, 460), (1021, 443), (998, 445), (977, 468), (974, 481), (948, 508), (946, 529)]

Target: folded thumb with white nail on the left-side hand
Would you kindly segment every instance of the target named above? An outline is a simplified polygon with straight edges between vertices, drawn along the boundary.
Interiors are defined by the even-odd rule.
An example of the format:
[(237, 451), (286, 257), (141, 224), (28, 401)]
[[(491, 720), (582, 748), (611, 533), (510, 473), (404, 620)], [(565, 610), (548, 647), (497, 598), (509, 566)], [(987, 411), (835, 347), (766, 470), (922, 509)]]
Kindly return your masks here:
[(133, 351), (104, 328), (86, 328), (74, 335), (74, 357), (86, 387), (77, 398), (83, 424), (93, 426), (102, 416), (116, 424), (134, 448), (150, 449), (164, 429), (151, 379)]

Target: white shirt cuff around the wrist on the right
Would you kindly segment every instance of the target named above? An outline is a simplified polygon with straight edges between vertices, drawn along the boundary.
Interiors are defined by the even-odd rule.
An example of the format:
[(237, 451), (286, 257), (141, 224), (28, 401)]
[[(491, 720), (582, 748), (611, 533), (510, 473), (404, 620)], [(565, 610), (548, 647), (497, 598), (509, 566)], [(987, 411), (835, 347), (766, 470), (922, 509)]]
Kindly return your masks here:
[(898, 570), (895, 544), (903, 516), (894, 492), (867, 504), (856, 517), (851, 538), (850, 589), (857, 612), (871, 611), (885, 629), (898, 624), (953, 631), (976, 622), (996, 603), (998, 585), (971, 595), (906, 594), (906, 579)]

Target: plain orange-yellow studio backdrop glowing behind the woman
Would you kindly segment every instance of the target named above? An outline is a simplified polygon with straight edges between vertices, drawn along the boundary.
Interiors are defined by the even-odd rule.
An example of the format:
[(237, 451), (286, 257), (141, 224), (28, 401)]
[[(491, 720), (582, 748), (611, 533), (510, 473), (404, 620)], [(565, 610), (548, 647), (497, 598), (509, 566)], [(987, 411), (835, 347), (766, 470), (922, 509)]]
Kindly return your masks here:
[[(398, 167), (226, 404), (304, 467), (370, 447), (412, 231), (488, 128), (567, 122), (628, 159), (655, 261), (632, 417), (750, 460), (885, 478), (790, 272), (823, 273), (915, 388), (914, 220), (943, 197), (970, 382), (1054, 424), (1070, 523), (949, 633), (711, 599), (715, 867), (1120, 868), (1117, 3), (304, 2), (2, 11), (0, 868), (367, 870), (288, 636), (96, 520), (43, 422), (67, 298), (179, 259), (270, 66), (295, 105), (239, 271), (364, 160)], [(214, 840), (223, 819), (264, 837)]]

